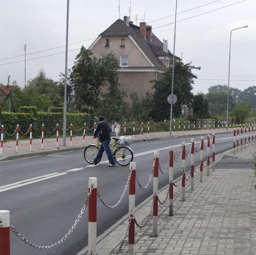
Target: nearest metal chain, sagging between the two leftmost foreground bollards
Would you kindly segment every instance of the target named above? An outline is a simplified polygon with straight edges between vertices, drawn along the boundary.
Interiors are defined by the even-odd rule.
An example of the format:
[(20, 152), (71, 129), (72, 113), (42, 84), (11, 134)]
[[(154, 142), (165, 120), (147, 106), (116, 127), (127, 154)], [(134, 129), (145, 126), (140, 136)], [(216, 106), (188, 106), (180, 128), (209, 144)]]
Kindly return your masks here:
[(90, 188), (90, 191), (88, 193), (88, 196), (86, 198), (86, 201), (85, 201), (85, 205), (83, 205), (82, 209), (81, 209), (81, 212), (80, 214), (78, 215), (78, 218), (75, 220), (75, 223), (73, 224), (72, 228), (70, 228), (70, 230), (68, 231), (68, 233), (66, 233), (66, 235), (64, 237), (62, 237), (61, 240), (57, 241), (57, 243), (54, 243), (53, 245), (49, 245), (49, 246), (40, 246), (40, 245), (35, 245), (33, 244), (31, 241), (28, 241), (25, 237), (23, 237), (17, 230), (14, 226), (12, 226), (10, 224), (10, 229), (12, 232), (15, 233), (16, 236), (19, 237), (20, 240), (24, 241), (24, 243), (30, 245), (30, 247), (33, 247), (33, 248), (36, 248), (36, 249), (39, 249), (39, 250), (48, 250), (48, 249), (53, 249), (55, 247), (57, 247), (58, 245), (60, 245), (62, 242), (64, 242), (70, 235), (70, 233), (73, 232), (73, 230), (75, 229), (75, 227), (77, 226), (79, 220), (81, 219), (82, 217), (82, 214), (83, 212), (85, 211), (85, 207), (87, 206), (87, 203), (89, 201), (89, 198), (91, 196), (91, 192), (93, 191), (93, 185), (91, 186)]

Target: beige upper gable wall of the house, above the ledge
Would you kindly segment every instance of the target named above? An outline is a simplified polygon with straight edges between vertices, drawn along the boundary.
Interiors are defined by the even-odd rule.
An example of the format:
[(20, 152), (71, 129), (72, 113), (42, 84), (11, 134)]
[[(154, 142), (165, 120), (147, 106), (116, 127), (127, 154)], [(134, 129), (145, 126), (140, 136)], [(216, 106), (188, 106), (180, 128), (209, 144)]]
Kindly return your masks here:
[[(106, 39), (110, 40), (110, 46), (105, 47)], [(121, 39), (125, 39), (125, 46), (120, 47)], [(119, 61), (120, 65), (120, 57), (121, 56), (128, 56), (129, 67), (151, 67), (152, 65), (146, 59), (144, 54), (140, 52), (137, 46), (133, 43), (133, 41), (129, 37), (102, 37), (96, 45), (91, 49), (94, 56), (96, 58), (100, 58), (102, 56), (107, 55), (108, 53), (113, 52), (115, 57)]]

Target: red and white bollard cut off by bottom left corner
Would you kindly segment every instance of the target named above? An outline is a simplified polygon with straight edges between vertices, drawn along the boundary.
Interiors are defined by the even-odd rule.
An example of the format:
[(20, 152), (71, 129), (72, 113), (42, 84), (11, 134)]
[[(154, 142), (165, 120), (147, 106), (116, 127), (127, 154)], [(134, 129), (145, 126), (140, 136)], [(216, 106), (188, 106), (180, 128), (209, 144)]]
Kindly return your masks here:
[(10, 255), (10, 211), (0, 210), (0, 254)]

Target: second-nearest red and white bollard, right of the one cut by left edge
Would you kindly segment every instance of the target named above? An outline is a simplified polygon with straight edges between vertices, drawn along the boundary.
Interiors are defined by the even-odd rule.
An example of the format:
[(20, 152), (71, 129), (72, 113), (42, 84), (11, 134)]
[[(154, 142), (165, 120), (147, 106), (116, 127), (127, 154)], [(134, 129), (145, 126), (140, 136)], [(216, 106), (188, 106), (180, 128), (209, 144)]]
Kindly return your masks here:
[[(91, 190), (93, 188), (93, 190)], [(97, 179), (89, 178), (89, 192), (91, 194), (88, 201), (88, 253), (96, 253), (97, 237)]]

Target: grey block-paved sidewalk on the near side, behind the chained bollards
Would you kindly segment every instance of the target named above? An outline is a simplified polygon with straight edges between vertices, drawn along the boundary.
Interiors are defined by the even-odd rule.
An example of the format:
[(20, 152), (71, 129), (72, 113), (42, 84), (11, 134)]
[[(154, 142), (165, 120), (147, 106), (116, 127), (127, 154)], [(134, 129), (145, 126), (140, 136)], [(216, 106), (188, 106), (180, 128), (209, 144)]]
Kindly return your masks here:
[[(181, 186), (174, 188), (174, 216), (169, 216), (168, 199), (158, 204), (157, 237), (152, 237), (152, 216), (148, 217), (152, 197), (137, 206), (135, 218), (145, 227), (135, 226), (135, 254), (256, 254), (255, 150), (254, 142), (236, 155), (233, 150), (217, 155), (215, 171), (210, 169), (206, 176), (203, 169), (203, 182), (195, 173), (193, 191), (190, 180), (186, 182), (184, 202)], [(180, 179), (175, 183), (180, 184)], [(158, 194), (160, 201), (165, 200), (167, 189)], [(97, 253), (128, 254), (128, 237), (120, 249), (127, 226), (125, 215), (100, 235)], [(78, 254), (87, 254), (87, 248)]]

